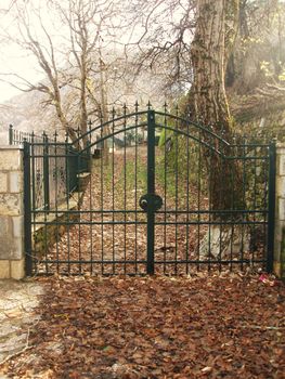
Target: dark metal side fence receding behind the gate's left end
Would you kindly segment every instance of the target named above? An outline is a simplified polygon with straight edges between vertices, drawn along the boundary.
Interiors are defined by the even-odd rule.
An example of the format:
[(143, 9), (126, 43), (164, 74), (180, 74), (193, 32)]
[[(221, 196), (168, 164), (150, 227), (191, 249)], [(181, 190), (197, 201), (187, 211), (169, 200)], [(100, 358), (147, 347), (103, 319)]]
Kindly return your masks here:
[(78, 155), (66, 138), (59, 141), (55, 132), (22, 132), (10, 126), (9, 143), (27, 145), (30, 157), (30, 198), (35, 210), (51, 210), (66, 201), (78, 188), (78, 175), (89, 169), (89, 153)]

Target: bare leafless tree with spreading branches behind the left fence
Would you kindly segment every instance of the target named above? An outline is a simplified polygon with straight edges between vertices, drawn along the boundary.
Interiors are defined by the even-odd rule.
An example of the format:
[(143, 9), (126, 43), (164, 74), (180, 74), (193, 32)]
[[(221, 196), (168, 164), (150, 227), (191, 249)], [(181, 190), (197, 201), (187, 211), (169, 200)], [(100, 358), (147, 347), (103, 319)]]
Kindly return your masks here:
[[(13, 86), (25, 92), (43, 93), (46, 106), (55, 108), (62, 129), (75, 141), (77, 127), (81, 133), (86, 133), (88, 116), (94, 114), (94, 109), (88, 109), (88, 80), (94, 64), (99, 64), (94, 55), (101, 48), (102, 36), (112, 28), (108, 22), (115, 5), (114, 2), (52, 0), (47, 6), (57, 18), (56, 26), (51, 19), (48, 23), (47, 17), (42, 17), (44, 10), (41, 8), (26, 2), (14, 4), (20, 35), (8, 38), (33, 54), (44, 77), (35, 83), (12, 73), (22, 82)], [(52, 31), (53, 27), (57, 28), (61, 43), (57, 41), (59, 35)], [(76, 112), (72, 112), (75, 108)], [(87, 140), (83, 139), (83, 146), (86, 144)]]

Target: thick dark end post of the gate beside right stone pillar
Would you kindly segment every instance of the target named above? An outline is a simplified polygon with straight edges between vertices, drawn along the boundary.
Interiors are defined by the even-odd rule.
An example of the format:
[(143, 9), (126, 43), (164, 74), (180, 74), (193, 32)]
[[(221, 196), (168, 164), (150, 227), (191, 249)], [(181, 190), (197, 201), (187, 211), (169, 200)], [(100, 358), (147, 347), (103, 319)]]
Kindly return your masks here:
[(273, 260), (274, 260), (275, 178), (276, 178), (276, 144), (273, 141), (269, 146), (268, 259), (267, 259), (268, 272), (272, 272)]

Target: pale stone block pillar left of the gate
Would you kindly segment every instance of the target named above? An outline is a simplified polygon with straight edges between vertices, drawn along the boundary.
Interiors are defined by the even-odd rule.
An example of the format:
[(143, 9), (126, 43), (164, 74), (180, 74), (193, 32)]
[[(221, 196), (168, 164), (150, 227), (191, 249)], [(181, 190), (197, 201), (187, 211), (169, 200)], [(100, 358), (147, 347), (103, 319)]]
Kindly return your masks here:
[(24, 276), (23, 149), (0, 146), (0, 279)]

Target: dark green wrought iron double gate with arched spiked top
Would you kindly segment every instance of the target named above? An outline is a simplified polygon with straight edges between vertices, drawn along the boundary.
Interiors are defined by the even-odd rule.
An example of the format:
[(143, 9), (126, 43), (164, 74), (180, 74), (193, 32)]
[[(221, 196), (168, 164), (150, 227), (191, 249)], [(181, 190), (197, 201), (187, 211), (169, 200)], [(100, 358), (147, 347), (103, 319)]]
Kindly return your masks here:
[(229, 143), (166, 106), (26, 141), (27, 273), (271, 271), (274, 183), (274, 143)]

